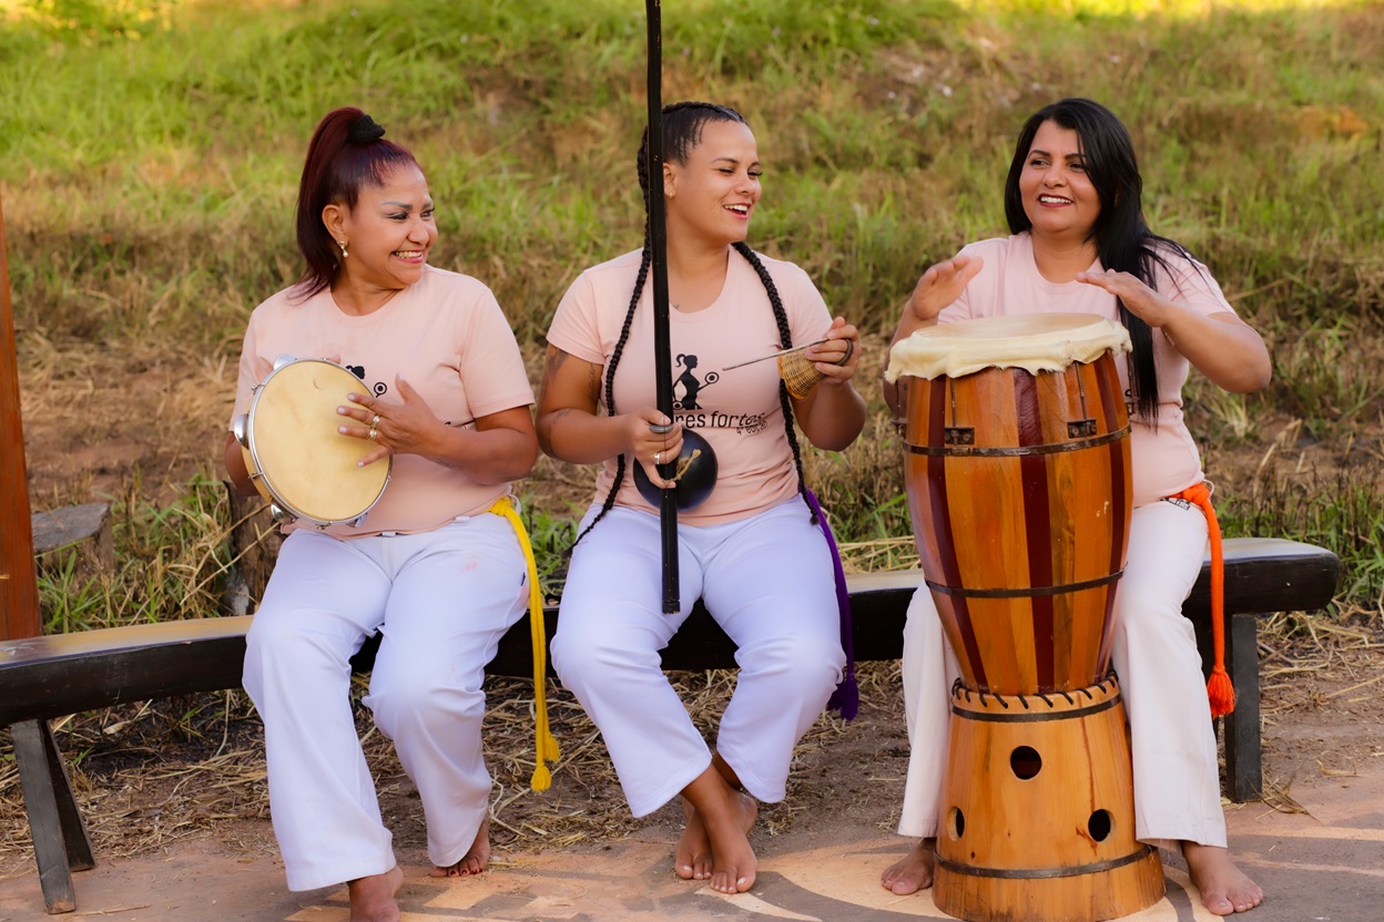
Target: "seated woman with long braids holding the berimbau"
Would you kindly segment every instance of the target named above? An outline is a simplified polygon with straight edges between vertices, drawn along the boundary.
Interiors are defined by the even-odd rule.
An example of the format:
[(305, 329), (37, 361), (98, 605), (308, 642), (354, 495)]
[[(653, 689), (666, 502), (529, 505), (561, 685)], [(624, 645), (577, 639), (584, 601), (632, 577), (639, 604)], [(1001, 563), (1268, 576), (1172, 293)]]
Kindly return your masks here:
[[(552, 664), (601, 728), (634, 814), (681, 795), (678, 876), (738, 893), (754, 883), (754, 799), (783, 799), (793, 745), (846, 665), (832, 552), (803, 487), (793, 420), (818, 448), (840, 451), (859, 434), (858, 333), (832, 319), (803, 270), (745, 243), (760, 158), (743, 117), (670, 105), (663, 138), (663, 176), (646, 176), (648, 137), (638, 169), (645, 196), (663, 195), (666, 206), (674, 419), (655, 409), (648, 238), (642, 252), (583, 272), (548, 330), (540, 444), (601, 464)], [(789, 394), (775, 362), (742, 365), (810, 343), (822, 380), (803, 397)], [(666, 615), (659, 513), (630, 467), (671, 487), (657, 464), (678, 458), (692, 430), (714, 451), (718, 476), (709, 498), (678, 516), (682, 611)], [(698, 597), (738, 644), (740, 666), (716, 755), (659, 664)]]

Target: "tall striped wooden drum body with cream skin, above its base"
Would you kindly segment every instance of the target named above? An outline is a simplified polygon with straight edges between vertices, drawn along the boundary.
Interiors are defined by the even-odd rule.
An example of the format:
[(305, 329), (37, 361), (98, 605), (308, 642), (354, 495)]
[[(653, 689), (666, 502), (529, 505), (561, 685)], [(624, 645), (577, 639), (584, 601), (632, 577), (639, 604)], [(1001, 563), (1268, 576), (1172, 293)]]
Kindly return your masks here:
[(1104, 676), (1129, 542), (1125, 329), (1089, 314), (926, 328), (893, 348), (923, 575), (966, 684)]

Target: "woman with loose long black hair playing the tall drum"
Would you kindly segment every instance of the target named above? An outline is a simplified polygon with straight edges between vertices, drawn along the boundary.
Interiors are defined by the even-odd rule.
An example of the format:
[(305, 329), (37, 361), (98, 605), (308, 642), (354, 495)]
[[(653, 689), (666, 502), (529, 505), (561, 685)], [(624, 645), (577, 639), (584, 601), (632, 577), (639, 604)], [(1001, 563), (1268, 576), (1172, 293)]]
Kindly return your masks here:
[[(1264, 893), (1226, 852), (1207, 686), (1182, 617), (1208, 525), (1197, 505), (1178, 498), (1203, 481), (1181, 391), (1190, 366), (1248, 393), (1268, 384), (1271, 365), (1264, 340), (1207, 268), (1149, 229), (1140, 192), (1133, 145), (1113, 113), (1089, 100), (1041, 109), (1019, 135), (1005, 185), (1013, 236), (972, 243), (929, 268), (894, 341), (934, 323), (1019, 312), (1099, 314), (1128, 329), (1133, 351), (1121, 382), (1135, 406), (1135, 509), (1111, 662), (1129, 715), (1136, 835), (1181, 849), (1201, 901), (1229, 915), (1254, 908)], [(897, 399), (889, 384), (886, 399)], [(913, 596), (904, 640), (912, 760), (900, 832), (923, 842), (884, 872), (894, 893), (931, 885), (956, 675), (926, 586)]]

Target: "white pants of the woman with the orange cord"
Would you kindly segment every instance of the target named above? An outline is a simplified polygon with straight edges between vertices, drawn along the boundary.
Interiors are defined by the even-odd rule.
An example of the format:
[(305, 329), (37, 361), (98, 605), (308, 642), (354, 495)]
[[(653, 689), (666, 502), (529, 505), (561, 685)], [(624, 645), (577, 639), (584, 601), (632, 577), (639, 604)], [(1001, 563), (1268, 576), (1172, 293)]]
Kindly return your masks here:
[[(1129, 717), (1135, 835), (1149, 845), (1225, 847), (1219, 767), (1201, 655), (1182, 603), (1207, 547), (1207, 520), (1185, 500), (1133, 510), (1129, 557), (1116, 593), (1111, 665)], [(959, 675), (931, 593), (920, 586), (904, 629), (904, 699), (911, 758), (898, 831), (937, 835), (947, 770), (949, 694)]]

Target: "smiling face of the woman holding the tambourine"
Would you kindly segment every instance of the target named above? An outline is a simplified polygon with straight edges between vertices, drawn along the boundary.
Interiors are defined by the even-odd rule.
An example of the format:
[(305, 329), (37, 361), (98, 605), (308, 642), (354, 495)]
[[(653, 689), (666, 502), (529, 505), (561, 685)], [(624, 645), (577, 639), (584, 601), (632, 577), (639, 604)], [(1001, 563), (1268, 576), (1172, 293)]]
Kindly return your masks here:
[(338, 281), (352, 288), (399, 290), (412, 285), (422, 278), (437, 241), (428, 180), (412, 164), (386, 173), (379, 185), (363, 187), (354, 209), (328, 205), (322, 223), (332, 239), (346, 242)]

